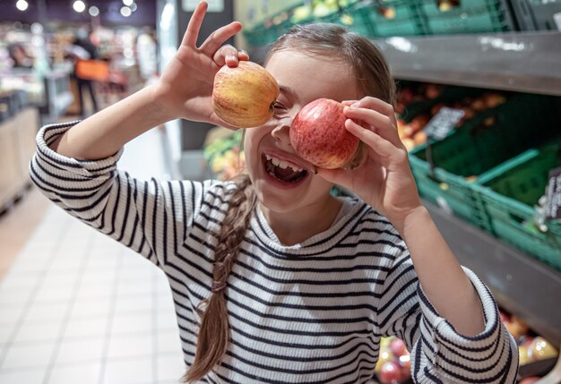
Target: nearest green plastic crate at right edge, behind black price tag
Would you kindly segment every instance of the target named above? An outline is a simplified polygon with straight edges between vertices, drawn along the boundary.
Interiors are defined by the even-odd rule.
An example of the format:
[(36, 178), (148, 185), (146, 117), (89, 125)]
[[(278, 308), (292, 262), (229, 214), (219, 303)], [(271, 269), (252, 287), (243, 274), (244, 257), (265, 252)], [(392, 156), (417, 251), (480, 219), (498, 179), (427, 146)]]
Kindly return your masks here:
[(547, 232), (534, 223), (549, 170), (561, 166), (561, 140), (529, 149), (489, 172), (476, 186), (488, 212), (493, 235), (561, 270), (561, 223), (549, 221)]

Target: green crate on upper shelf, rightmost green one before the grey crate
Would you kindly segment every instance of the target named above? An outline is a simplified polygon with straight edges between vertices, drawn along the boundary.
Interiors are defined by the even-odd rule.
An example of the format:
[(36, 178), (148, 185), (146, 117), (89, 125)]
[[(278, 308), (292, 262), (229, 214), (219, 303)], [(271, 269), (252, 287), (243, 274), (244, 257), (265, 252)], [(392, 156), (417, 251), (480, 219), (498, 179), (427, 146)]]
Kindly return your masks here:
[(460, 0), (456, 6), (439, 8), (436, 0), (420, 0), (419, 14), (427, 34), (500, 32), (514, 30), (502, 0)]

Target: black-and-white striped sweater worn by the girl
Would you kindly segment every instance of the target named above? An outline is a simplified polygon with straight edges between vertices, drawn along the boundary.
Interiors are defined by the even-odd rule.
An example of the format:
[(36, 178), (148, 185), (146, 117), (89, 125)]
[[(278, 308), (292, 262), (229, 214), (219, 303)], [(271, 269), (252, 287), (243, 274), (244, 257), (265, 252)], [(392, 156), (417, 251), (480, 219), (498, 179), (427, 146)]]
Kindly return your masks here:
[[(117, 170), (121, 152), (84, 161), (48, 148), (72, 124), (41, 129), (34, 183), (62, 209), (151, 260), (168, 277), (184, 359), (194, 358), (211, 294), (213, 249), (231, 183), (140, 181)], [(208, 383), (362, 383), (380, 338), (401, 337), (419, 383), (513, 383), (518, 353), (478, 277), (485, 330), (463, 337), (419, 285), (409, 252), (386, 218), (362, 201), (330, 229), (282, 245), (255, 208), (228, 279), (230, 340)]]

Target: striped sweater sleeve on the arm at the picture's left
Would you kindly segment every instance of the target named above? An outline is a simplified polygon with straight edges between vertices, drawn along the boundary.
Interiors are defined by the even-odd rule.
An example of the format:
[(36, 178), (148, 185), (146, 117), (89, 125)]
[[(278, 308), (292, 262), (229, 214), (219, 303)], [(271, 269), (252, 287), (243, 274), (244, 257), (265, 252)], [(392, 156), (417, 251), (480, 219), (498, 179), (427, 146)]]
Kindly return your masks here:
[(137, 180), (117, 170), (123, 149), (99, 160), (66, 158), (50, 149), (73, 124), (47, 125), (39, 131), (31, 180), (73, 217), (165, 265), (192, 226), (203, 184)]

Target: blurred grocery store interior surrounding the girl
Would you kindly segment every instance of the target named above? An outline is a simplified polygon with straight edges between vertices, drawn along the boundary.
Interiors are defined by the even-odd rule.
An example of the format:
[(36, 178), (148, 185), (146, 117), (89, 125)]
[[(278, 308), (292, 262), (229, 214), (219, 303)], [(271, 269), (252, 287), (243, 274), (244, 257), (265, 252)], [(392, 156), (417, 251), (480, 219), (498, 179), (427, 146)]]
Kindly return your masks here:
[[(48, 201), (29, 164), (41, 126), (158, 81), (197, 3), (0, 0), (0, 384), (185, 373), (164, 274)], [(518, 382), (561, 383), (561, 1), (208, 3), (201, 38), (241, 21), (232, 44), (259, 64), (285, 30), (315, 21), (380, 48), (419, 194), (494, 294), (519, 346)], [(240, 138), (175, 120), (126, 144), (118, 164), (142, 180), (226, 180), (243, 169)], [(412, 382), (399, 345), (383, 340), (376, 382)]]

